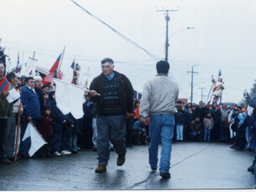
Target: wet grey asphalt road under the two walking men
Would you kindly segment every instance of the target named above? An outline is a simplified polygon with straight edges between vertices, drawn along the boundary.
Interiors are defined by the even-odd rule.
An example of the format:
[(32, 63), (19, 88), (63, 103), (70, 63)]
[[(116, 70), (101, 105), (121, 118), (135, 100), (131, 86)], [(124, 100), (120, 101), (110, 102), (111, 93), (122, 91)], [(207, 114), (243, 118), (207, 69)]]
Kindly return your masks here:
[[(158, 189), (251, 189), (254, 174), (247, 171), (254, 153), (232, 150), (217, 142), (173, 144), (170, 179), (150, 170), (147, 146), (127, 148), (126, 162), (116, 165), (110, 152), (106, 173), (95, 174), (97, 152), (54, 158), (31, 158), (0, 165), (0, 190), (158, 190)], [(160, 154), (161, 145), (159, 145)], [(159, 157), (158, 154), (158, 157)]]

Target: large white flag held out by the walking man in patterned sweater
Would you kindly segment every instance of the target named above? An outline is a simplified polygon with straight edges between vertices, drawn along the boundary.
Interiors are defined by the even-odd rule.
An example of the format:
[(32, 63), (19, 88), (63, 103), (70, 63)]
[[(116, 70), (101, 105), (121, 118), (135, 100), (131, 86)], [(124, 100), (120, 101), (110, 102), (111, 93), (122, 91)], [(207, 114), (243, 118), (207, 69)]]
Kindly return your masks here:
[(54, 78), (54, 83), (56, 84), (55, 100), (58, 109), (61, 110), (63, 114), (71, 113), (76, 119), (82, 118), (84, 114), (82, 110), (82, 100), (86, 89), (57, 78)]

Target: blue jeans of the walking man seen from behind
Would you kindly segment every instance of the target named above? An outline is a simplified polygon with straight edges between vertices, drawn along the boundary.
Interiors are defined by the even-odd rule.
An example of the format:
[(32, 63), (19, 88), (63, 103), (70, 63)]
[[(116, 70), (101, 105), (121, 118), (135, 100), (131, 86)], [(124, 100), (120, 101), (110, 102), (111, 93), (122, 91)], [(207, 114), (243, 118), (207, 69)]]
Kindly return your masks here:
[(150, 166), (158, 166), (158, 144), (162, 142), (162, 151), (160, 159), (160, 172), (169, 173), (170, 170), (170, 153), (172, 138), (174, 137), (174, 114), (153, 114), (150, 115)]

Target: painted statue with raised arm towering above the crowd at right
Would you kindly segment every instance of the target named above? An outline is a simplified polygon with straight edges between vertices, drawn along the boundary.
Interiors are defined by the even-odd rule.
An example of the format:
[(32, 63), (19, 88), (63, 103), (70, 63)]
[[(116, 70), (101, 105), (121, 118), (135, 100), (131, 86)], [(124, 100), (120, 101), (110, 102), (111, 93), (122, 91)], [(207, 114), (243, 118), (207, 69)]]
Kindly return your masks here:
[(213, 102), (218, 102), (218, 99), (222, 97), (222, 90), (224, 90), (224, 82), (222, 82), (222, 72), (219, 70), (218, 72), (218, 81), (214, 79), (214, 75), (211, 76), (212, 82), (214, 85), (212, 86), (213, 88), (213, 93), (212, 96), (214, 96), (214, 101)]

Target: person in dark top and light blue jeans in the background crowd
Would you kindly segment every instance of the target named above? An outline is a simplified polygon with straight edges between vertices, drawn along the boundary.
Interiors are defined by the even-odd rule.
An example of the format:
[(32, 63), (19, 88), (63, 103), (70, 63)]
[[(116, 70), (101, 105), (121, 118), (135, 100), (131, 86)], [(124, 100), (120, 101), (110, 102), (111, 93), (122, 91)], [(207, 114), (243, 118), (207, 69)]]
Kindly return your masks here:
[(187, 113), (183, 113), (182, 108), (178, 108), (176, 114), (177, 141), (183, 141), (183, 126), (186, 126), (186, 115)]

